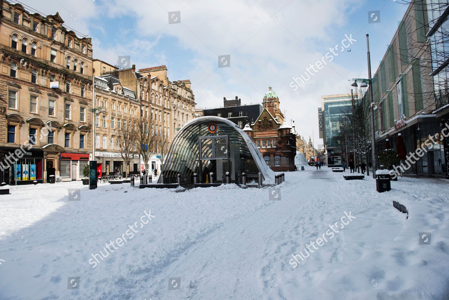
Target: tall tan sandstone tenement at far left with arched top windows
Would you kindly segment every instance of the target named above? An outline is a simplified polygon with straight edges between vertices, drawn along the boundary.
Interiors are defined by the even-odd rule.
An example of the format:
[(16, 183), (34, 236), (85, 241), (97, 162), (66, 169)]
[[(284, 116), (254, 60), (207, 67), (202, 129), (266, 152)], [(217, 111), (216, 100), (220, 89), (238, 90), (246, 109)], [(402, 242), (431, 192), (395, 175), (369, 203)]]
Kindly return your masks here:
[(1, 5), (1, 180), (79, 180), (92, 146), (92, 41), (66, 29), (58, 13)]

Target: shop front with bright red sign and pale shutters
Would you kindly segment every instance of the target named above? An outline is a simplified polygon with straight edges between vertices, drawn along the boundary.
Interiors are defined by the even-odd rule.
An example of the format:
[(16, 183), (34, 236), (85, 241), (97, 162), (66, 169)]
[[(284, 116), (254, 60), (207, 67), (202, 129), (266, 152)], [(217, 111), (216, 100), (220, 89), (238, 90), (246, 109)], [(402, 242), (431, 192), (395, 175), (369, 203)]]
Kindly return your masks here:
[(83, 168), (89, 163), (89, 153), (62, 152), (59, 160), (59, 176), (62, 181), (84, 178)]

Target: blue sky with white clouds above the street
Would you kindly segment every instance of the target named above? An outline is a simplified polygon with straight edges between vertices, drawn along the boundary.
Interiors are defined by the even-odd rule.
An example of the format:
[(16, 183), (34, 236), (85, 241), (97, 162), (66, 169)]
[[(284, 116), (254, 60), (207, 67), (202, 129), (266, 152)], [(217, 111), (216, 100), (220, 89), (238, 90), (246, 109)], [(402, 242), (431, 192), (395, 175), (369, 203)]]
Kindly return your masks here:
[[(92, 37), (93, 56), (117, 63), (130, 55), (137, 68), (165, 64), (170, 80), (190, 79), (197, 107), (223, 97), (261, 102), (272, 85), (286, 118), (306, 140), (318, 139), (321, 95), (348, 92), (353, 77), (366, 78), (370, 35), (373, 73), (406, 7), (393, 0), (22, 0), (44, 14), (59, 12), (65, 25)], [(132, 4), (132, 5), (130, 5)], [(368, 23), (369, 11), (380, 22)], [(180, 23), (168, 24), (168, 12)], [(356, 39), (315, 76), (293, 91), (292, 77), (321, 59), (345, 35)], [(230, 67), (218, 68), (218, 55)]]

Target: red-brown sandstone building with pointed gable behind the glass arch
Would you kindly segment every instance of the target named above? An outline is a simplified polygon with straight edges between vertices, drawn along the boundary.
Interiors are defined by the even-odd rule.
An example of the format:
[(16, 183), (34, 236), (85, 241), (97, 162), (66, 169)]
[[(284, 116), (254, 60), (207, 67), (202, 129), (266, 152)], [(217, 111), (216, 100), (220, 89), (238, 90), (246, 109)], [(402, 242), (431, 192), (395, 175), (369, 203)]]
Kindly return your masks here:
[(296, 135), (291, 133), (292, 127), (284, 122), (279, 98), (271, 86), (265, 93), (262, 104), (264, 109), (259, 117), (243, 130), (254, 140), (273, 171), (294, 171)]

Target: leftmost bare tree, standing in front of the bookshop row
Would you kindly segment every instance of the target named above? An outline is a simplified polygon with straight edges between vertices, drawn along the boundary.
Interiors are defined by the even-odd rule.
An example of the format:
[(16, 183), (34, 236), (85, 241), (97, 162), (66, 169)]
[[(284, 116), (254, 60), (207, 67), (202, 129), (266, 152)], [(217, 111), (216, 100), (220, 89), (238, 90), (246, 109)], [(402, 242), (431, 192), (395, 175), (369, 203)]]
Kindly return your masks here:
[(120, 157), (122, 157), (123, 162), (125, 163), (125, 178), (127, 177), (126, 168), (129, 165), (129, 162), (134, 157), (136, 153), (136, 146), (138, 141), (138, 130), (136, 127), (136, 123), (132, 121), (123, 121), (123, 124), (120, 128), (115, 130), (116, 139), (117, 139), (117, 148), (115, 152), (117, 152)]

